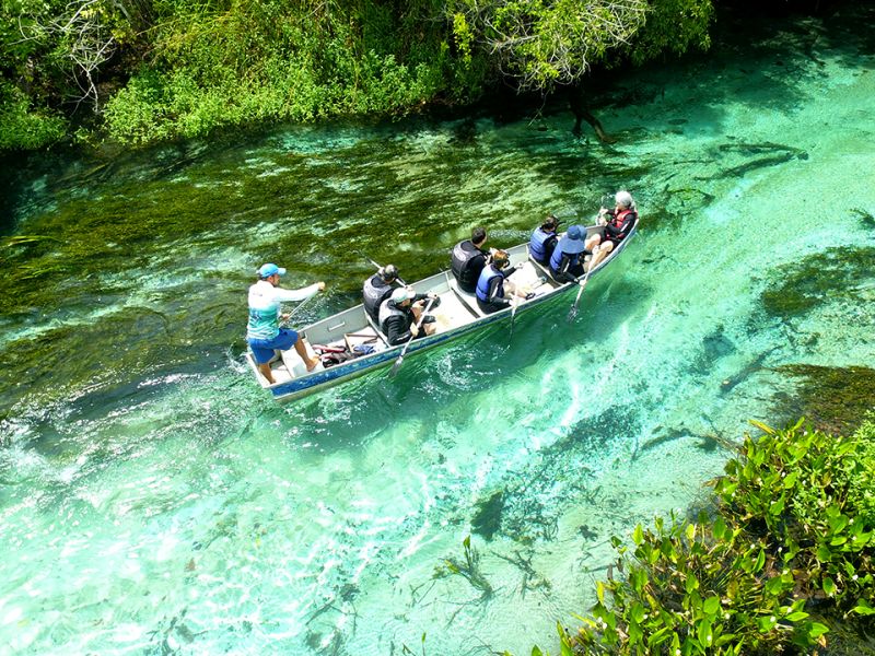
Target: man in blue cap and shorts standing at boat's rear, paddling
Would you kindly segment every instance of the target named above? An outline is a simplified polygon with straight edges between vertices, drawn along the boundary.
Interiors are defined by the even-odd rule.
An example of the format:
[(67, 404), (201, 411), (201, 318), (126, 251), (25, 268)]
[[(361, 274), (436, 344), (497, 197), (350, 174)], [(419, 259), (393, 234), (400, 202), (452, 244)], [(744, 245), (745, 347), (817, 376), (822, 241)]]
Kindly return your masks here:
[(308, 372), (316, 368), (318, 358), (307, 355), (304, 340), (289, 328), (280, 328), (280, 319), (289, 315), (280, 314), (283, 301), (304, 301), (325, 290), (324, 282), (316, 282), (300, 290), (284, 290), (279, 286), (280, 277), (285, 269), (277, 265), (261, 265), (257, 271), (258, 282), (249, 288), (249, 321), (246, 326), (246, 341), (253, 352), (258, 371), (271, 385), (276, 383), (270, 372), (273, 351), (288, 351), (294, 345), (295, 352), (304, 361)]

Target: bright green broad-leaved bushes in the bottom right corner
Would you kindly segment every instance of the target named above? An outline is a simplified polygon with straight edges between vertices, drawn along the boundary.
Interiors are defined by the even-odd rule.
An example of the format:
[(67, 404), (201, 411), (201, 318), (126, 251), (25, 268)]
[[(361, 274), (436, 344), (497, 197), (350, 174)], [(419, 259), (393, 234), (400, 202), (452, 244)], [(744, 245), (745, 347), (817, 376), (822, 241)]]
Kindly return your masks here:
[(563, 656), (875, 654), (875, 414), (850, 437), (757, 425), (710, 514), (614, 539), (619, 575), (559, 626)]

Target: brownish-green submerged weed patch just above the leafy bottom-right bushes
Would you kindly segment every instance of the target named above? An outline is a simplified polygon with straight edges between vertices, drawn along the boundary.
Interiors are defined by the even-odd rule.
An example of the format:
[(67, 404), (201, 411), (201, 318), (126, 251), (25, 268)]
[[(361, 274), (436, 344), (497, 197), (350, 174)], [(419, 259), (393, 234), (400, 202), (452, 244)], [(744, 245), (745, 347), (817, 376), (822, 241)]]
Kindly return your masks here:
[(830, 367), (785, 364), (775, 371), (797, 382), (794, 394), (775, 395), (774, 410), (782, 417), (804, 417), (833, 435), (856, 430), (875, 408), (875, 370), (865, 366)]

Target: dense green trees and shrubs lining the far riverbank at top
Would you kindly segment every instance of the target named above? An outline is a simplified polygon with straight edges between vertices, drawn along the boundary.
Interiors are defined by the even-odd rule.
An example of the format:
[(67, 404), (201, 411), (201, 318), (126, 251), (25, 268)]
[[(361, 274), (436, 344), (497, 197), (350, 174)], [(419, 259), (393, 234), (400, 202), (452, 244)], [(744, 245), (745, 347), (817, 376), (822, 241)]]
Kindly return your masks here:
[(593, 68), (707, 48), (713, 14), (712, 0), (3, 0), (0, 149), (579, 91)]

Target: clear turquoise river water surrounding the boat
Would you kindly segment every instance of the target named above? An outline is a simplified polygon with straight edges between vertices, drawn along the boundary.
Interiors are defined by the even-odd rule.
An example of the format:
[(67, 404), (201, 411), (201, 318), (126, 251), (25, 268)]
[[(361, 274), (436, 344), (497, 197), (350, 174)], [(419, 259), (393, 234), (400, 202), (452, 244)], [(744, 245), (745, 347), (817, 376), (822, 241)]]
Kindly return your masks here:
[[(0, 644), (556, 651), (610, 536), (697, 507), (724, 441), (775, 418), (777, 366), (875, 361), (875, 273), (849, 296), (814, 266), (875, 248), (854, 11), (625, 75), (598, 92), (609, 148), (557, 108), (33, 164), (8, 232), (51, 238), (7, 238), (0, 281)], [(621, 186), (640, 236), (573, 325), (569, 297), (290, 406), (242, 364), (261, 261), (326, 280), (310, 320), (357, 300), (365, 257), (420, 278), (472, 224), (517, 243)], [(800, 262), (822, 293), (769, 314)], [(446, 566), (468, 535), (489, 588)]]

